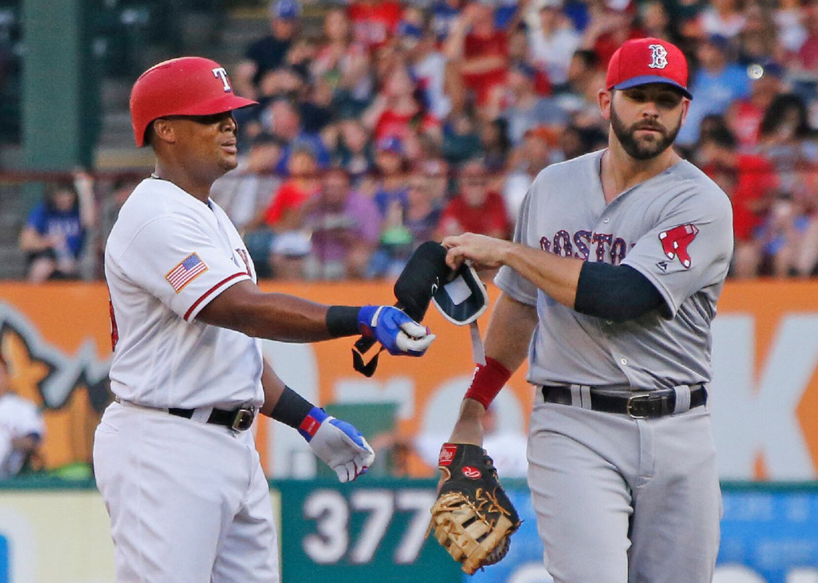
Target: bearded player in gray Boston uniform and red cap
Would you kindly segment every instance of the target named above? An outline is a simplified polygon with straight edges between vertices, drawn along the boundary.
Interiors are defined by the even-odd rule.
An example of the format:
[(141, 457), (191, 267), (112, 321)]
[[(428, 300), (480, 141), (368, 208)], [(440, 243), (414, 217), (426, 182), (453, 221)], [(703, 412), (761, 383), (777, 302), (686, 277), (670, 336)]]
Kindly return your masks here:
[(710, 324), (733, 235), (724, 192), (670, 147), (686, 83), (677, 47), (627, 41), (599, 94), (608, 147), (539, 174), (514, 242), (443, 240), (451, 267), (500, 267), (502, 290), (452, 442), (481, 444), (528, 349), (528, 484), (556, 583), (712, 580)]

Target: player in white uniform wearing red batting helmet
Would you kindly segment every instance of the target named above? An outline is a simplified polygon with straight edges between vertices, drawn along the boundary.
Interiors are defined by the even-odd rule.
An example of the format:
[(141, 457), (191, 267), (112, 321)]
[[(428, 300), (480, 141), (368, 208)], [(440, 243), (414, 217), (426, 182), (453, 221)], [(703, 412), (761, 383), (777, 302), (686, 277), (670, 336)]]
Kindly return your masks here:
[(327, 307), (263, 294), (210, 186), (236, 167), (233, 94), (214, 61), (182, 57), (134, 83), (137, 146), (155, 173), (119, 212), (106, 245), (112, 403), (94, 442), (117, 581), (279, 581), (267, 480), (247, 431), (261, 412), (290, 424), (342, 482), (375, 455), (366, 439), (285, 387), (259, 338), (370, 334), (392, 354), (434, 339), (393, 307)]

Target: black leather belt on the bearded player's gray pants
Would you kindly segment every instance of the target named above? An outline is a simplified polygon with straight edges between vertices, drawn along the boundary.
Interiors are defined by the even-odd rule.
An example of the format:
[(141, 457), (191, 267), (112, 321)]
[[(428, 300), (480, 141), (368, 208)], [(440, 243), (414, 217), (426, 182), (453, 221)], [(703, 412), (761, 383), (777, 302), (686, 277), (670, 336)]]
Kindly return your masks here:
[[(618, 392), (603, 388), (585, 387), (584, 395), (590, 397), (590, 404), (582, 402), (585, 397), (578, 399), (572, 396), (572, 389), (566, 385), (542, 385), (542, 398), (546, 403), (560, 405), (582, 406), (586, 409), (603, 411), (605, 413), (622, 413), (631, 415), (634, 419), (655, 419), (672, 415), (676, 410), (676, 391), (672, 388), (661, 388), (654, 391)], [(581, 402), (577, 402), (577, 401)], [(690, 406), (685, 410), (702, 406), (708, 402), (708, 391), (703, 384), (694, 384), (690, 387)]]

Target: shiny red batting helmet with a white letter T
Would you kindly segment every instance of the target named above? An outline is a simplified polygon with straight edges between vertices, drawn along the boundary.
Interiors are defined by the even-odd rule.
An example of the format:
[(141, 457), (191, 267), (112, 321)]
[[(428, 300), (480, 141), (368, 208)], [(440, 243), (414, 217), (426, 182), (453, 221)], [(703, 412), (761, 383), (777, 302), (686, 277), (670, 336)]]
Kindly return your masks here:
[(146, 70), (131, 89), (131, 123), (137, 146), (145, 130), (166, 115), (213, 115), (237, 110), (256, 101), (233, 93), (227, 71), (201, 56), (180, 56)]

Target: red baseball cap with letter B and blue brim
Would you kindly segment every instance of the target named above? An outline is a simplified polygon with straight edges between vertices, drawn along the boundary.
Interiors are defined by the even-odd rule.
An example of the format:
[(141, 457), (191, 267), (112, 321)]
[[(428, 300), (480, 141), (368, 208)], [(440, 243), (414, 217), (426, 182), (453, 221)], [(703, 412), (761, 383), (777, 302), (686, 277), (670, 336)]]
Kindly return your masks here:
[(605, 76), (605, 87), (627, 89), (645, 83), (667, 83), (681, 89), (688, 99), (687, 59), (673, 43), (661, 38), (634, 38), (613, 53)]

